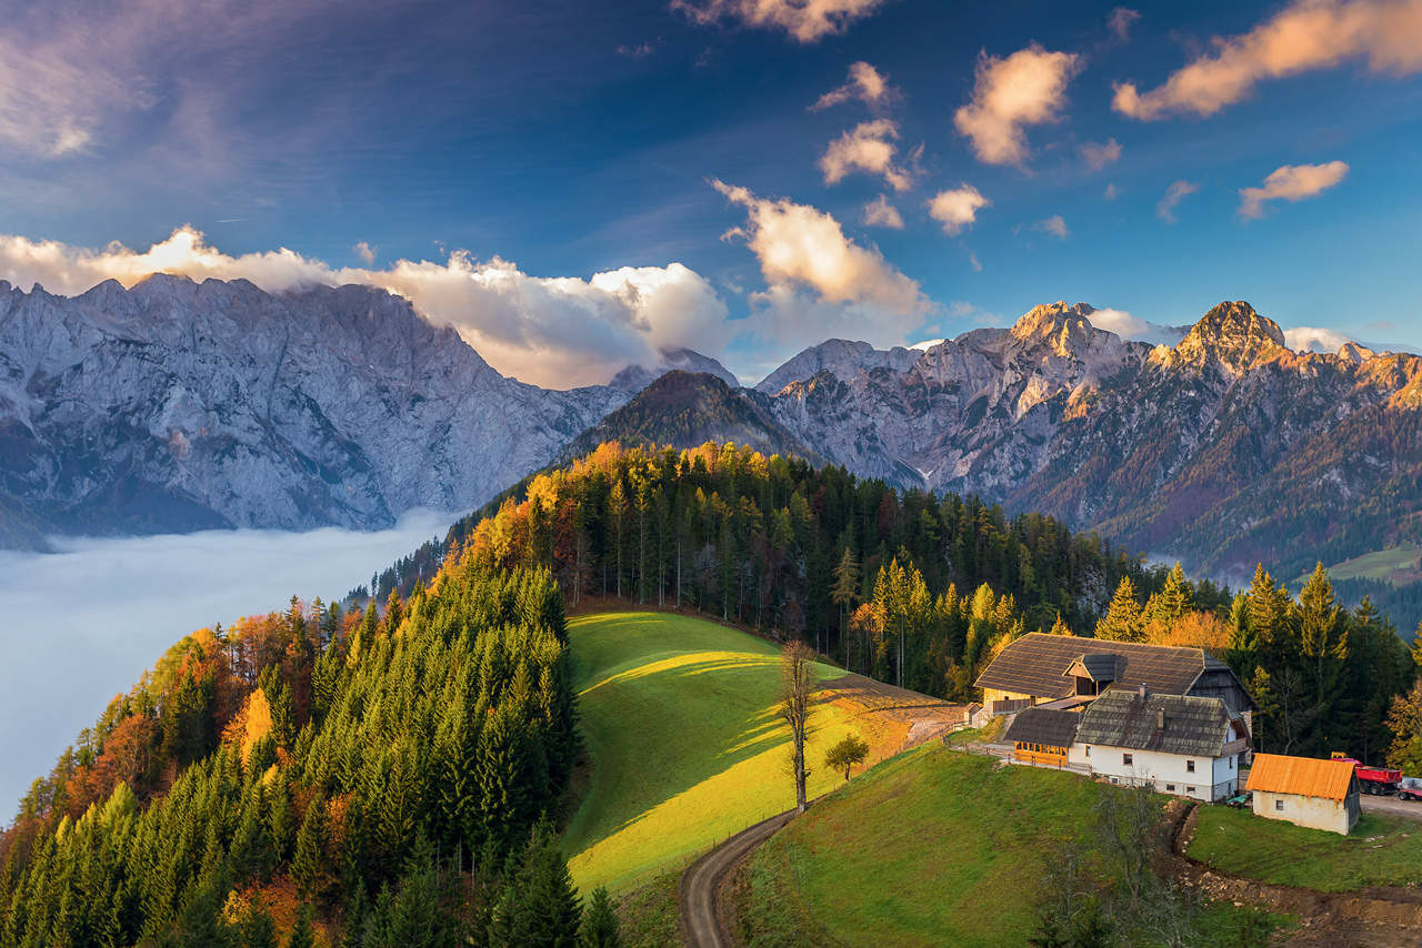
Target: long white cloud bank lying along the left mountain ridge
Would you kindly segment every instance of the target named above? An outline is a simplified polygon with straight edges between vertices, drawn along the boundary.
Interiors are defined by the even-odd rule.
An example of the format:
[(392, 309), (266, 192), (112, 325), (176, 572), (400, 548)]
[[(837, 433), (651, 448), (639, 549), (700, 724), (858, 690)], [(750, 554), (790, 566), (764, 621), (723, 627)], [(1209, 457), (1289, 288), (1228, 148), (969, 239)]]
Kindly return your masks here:
[(385, 269), (331, 267), (280, 249), (229, 256), (192, 227), (137, 252), (0, 236), (0, 277), (73, 296), (108, 279), (132, 286), (152, 273), (195, 280), (245, 279), (270, 293), (300, 286), (363, 283), (411, 301), (431, 323), (452, 325), (496, 370), (569, 388), (606, 382), (650, 364), (658, 350), (688, 345), (717, 354), (729, 338), (727, 307), (711, 284), (680, 263), (623, 267), (590, 279), (535, 277), (508, 260), (397, 260)]

